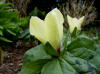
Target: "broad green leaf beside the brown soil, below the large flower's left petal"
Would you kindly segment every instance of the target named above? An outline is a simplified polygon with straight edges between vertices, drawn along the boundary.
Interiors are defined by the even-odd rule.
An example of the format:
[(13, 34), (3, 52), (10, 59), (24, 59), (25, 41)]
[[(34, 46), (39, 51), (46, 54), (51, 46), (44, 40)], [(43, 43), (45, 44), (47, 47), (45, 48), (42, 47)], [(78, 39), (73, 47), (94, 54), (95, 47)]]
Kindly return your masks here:
[(30, 49), (25, 53), (21, 74), (39, 74), (42, 66), (50, 59), (42, 44)]

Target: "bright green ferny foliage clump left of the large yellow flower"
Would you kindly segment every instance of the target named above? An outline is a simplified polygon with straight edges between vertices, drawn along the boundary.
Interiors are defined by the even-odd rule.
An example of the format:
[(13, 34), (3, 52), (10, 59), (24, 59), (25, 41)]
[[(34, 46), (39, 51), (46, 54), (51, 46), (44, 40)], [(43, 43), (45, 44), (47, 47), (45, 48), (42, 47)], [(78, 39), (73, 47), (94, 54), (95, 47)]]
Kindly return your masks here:
[[(13, 42), (23, 31), (27, 18), (20, 18), (18, 11), (10, 3), (0, 3), (0, 41)], [(25, 26), (25, 25), (24, 25)], [(1, 42), (0, 42), (1, 43)]]

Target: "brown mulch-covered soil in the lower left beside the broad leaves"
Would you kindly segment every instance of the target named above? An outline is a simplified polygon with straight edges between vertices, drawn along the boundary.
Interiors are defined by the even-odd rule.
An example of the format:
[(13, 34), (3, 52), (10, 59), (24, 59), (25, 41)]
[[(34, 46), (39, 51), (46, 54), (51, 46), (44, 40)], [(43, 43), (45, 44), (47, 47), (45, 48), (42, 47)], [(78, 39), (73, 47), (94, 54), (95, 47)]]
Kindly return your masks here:
[[(36, 44), (34, 44), (36, 45)], [(22, 67), (22, 60), (24, 53), (33, 46), (29, 44), (10, 47), (4, 49), (7, 56), (3, 60), (3, 64), (0, 66), (0, 74), (18, 74)], [(9, 50), (9, 51), (8, 51)]]

